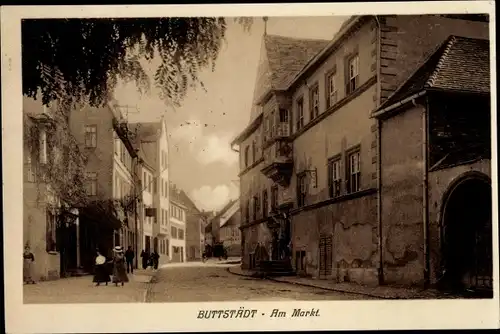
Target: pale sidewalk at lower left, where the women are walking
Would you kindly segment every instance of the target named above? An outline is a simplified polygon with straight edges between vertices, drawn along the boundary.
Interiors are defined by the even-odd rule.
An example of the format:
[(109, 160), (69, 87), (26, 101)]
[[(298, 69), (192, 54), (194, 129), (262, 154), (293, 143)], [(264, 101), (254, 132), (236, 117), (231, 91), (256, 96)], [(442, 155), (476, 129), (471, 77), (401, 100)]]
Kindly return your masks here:
[(123, 287), (112, 283), (96, 287), (91, 275), (37, 282), (23, 286), (23, 299), (25, 304), (144, 302), (154, 274), (151, 270), (134, 270)]

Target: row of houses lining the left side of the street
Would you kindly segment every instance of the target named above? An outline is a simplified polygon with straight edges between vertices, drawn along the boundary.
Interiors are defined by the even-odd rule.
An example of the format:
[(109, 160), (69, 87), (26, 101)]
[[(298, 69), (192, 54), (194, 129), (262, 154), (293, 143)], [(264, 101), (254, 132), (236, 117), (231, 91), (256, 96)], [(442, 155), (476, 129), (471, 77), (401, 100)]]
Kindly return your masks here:
[[(96, 250), (160, 263), (201, 258), (202, 221), (169, 179), (167, 124), (129, 123), (116, 101), (68, 112), (24, 98), (24, 234), (36, 279), (90, 272)], [(196, 218), (193, 218), (196, 217)]]

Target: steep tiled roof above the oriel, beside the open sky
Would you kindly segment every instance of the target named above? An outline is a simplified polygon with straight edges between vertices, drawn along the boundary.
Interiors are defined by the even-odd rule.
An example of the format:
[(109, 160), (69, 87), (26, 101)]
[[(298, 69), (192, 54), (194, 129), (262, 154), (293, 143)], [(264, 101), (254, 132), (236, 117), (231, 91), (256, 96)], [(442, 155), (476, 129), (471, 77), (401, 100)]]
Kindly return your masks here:
[(264, 36), (264, 47), (271, 70), (273, 89), (287, 89), (307, 62), (320, 52), (328, 40)]

